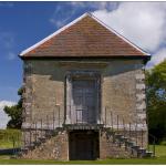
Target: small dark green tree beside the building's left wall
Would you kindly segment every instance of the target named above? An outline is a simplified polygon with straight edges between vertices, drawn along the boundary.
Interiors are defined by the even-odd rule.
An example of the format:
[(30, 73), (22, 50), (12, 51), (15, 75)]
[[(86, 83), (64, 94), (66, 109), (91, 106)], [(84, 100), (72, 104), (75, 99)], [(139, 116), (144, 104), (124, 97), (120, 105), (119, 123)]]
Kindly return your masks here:
[(19, 89), (18, 95), (20, 95), (20, 100), (18, 104), (13, 106), (4, 106), (3, 111), (11, 117), (11, 120), (7, 124), (7, 128), (21, 128), (22, 125), (22, 92), (23, 89)]

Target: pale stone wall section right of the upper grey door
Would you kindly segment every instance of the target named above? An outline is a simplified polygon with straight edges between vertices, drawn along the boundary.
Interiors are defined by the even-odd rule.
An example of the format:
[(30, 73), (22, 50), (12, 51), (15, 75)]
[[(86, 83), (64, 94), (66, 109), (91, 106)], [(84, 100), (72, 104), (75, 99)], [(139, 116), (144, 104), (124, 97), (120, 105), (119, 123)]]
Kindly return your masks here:
[[(139, 62), (133, 61), (115, 61), (103, 71), (102, 76), (102, 108), (103, 121), (105, 121), (105, 110), (107, 111), (106, 121), (111, 123), (111, 112), (113, 112), (114, 124), (116, 125), (116, 116), (120, 116), (120, 124), (124, 118), (125, 123), (138, 123), (137, 98), (142, 95), (145, 100), (144, 92), (137, 91), (136, 76), (144, 72)], [(144, 82), (143, 82), (144, 84)], [(145, 85), (144, 85), (145, 86)], [(145, 94), (145, 93), (144, 93)], [(143, 108), (139, 110), (143, 112)], [(145, 105), (144, 105), (145, 114)], [(143, 122), (141, 122), (142, 124)], [(145, 121), (144, 121), (145, 124)], [(146, 126), (146, 125), (145, 125)]]

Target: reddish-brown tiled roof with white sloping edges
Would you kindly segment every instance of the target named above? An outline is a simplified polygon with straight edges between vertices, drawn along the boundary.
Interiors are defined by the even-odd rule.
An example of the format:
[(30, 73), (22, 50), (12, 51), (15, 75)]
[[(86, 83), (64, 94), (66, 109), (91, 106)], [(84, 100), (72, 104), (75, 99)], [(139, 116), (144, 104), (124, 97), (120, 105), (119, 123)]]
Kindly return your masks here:
[(85, 13), (21, 52), (23, 58), (146, 56), (146, 52)]

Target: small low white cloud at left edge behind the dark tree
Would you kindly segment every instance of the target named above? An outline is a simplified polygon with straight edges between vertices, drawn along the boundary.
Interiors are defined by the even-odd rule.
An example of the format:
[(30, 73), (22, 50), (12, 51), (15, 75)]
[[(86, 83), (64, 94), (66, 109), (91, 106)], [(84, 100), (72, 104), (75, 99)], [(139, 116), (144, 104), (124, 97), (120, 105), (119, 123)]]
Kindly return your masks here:
[(14, 105), (15, 102), (10, 102), (10, 101), (0, 101), (0, 128), (6, 128), (7, 127), (7, 123), (10, 120), (8, 117), (8, 115), (3, 112), (3, 107), (6, 105), (8, 106), (12, 106)]

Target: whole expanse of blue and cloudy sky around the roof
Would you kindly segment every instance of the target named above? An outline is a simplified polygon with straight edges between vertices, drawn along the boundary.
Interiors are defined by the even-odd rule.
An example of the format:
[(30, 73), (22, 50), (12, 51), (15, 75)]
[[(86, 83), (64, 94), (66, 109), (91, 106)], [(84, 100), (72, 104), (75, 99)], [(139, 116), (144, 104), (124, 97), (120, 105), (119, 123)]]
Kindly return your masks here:
[(152, 53), (149, 66), (164, 59), (166, 2), (0, 2), (0, 102), (18, 101), (18, 54), (87, 11)]

